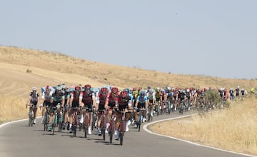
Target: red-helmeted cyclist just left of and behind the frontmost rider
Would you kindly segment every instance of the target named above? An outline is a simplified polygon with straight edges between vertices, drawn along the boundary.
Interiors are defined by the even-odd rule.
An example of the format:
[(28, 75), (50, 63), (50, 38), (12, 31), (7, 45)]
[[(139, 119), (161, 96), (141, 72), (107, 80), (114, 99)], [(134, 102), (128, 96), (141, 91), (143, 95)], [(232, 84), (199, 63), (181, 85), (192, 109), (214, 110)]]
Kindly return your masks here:
[(108, 133), (108, 128), (110, 126), (111, 114), (114, 108), (118, 106), (118, 96), (119, 96), (119, 89), (117, 87), (111, 88), (111, 93), (107, 95), (108, 101), (108, 109), (107, 109), (107, 121), (106, 121), (106, 133)]

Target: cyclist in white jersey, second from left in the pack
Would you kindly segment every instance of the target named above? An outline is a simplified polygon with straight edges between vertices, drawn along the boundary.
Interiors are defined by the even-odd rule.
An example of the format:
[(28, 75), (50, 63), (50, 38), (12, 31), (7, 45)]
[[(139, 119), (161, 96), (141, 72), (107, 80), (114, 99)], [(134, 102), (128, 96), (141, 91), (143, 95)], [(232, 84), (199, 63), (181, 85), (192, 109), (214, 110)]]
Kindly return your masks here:
[(46, 106), (51, 106), (51, 97), (52, 97), (52, 91), (50, 86), (45, 87), (45, 91), (42, 93), (41, 96), (41, 107), (42, 107), (42, 121), (41, 123), (44, 124), (44, 114), (46, 111)]

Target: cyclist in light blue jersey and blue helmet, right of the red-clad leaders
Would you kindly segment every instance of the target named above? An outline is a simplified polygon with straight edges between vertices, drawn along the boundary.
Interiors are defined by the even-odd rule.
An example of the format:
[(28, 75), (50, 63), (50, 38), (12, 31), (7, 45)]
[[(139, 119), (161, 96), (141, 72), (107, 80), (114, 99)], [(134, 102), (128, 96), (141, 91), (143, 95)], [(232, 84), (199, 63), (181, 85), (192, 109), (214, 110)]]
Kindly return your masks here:
[[(138, 124), (138, 115), (139, 115), (139, 108), (143, 108), (146, 109), (148, 106), (148, 97), (146, 96), (146, 91), (141, 91), (139, 96), (136, 99), (136, 104), (135, 104), (135, 108), (136, 108), (136, 115), (135, 115), (135, 128), (137, 128), (137, 124)], [(146, 111), (142, 111), (142, 115), (144, 117), (146, 117)]]

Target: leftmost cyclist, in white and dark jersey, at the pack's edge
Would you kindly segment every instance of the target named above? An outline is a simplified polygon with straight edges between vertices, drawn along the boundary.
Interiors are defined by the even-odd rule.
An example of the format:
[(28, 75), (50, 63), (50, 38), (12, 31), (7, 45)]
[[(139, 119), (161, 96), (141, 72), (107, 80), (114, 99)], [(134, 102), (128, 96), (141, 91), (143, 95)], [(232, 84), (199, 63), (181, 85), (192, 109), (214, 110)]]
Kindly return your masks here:
[(39, 93), (37, 92), (37, 88), (33, 87), (32, 91), (29, 93), (27, 105), (29, 105), (30, 107), (32, 107), (31, 105), (34, 106), (34, 124), (36, 124), (36, 111), (37, 107), (39, 106), (39, 102)]

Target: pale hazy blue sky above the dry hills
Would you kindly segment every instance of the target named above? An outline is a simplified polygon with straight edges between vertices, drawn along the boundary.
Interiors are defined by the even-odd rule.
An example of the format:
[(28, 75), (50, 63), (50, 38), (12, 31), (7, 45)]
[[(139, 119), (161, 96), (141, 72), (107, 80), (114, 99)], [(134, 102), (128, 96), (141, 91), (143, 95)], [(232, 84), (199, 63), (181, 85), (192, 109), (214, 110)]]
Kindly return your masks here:
[(0, 45), (171, 74), (257, 78), (256, 0), (0, 0)]

